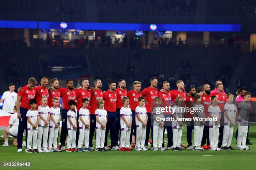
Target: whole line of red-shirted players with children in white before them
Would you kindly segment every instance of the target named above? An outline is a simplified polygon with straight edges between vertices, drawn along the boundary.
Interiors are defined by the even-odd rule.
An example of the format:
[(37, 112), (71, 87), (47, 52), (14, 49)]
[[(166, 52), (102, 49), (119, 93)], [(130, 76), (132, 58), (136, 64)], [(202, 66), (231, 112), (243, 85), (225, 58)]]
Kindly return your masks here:
[[(37, 141), (40, 141), (40, 138), (45, 136), (46, 138), (43, 137), (43, 148), (44, 150), (47, 148), (47, 127), (50, 129), (49, 131), (51, 134), (51, 131), (53, 131), (51, 129), (55, 129), (56, 127), (55, 123), (58, 124), (57, 120), (55, 120), (55, 122), (53, 121), (52, 115), (58, 114), (54, 113), (53, 111), (40, 111), (40, 108), (48, 108), (48, 110), (59, 110), (60, 97), (62, 97), (63, 100), (60, 139), (61, 150), (65, 149), (65, 140), (67, 135), (67, 151), (82, 151), (82, 143), (84, 143), (84, 149), (89, 151), (93, 150), (94, 148), (92, 147), (92, 138), (94, 136), (95, 129), (97, 151), (105, 151), (109, 150), (110, 148), (112, 150), (131, 150), (130, 144), (132, 143), (133, 132), (136, 134), (135, 150), (148, 150), (148, 138), (150, 129), (152, 134), (151, 139), (153, 139), (152, 149), (164, 150), (164, 127), (168, 132), (168, 145), (166, 148), (172, 150), (181, 150), (181, 148), (183, 148), (183, 145), (180, 144), (183, 122), (179, 121), (179, 118), (188, 115), (184, 115), (184, 112), (174, 112), (172, 116), (175, 120), (172, 121), (171, 126), (165, 126), (163, 121), (158, 121), (156, 120), (156, 117), (152, 116), (156, 108), (152, 110), (151, 103), (155, 102), (155, 107), (160, 107), (163, 103), (165, 105), (168, 105), (168, 103), (171, 105), (171, 100), (173, 101), (174, 107), (192, 107), (188, 105), (185, 106), (184, 101), (195, 100), (195, 104), (193, 106), (204, 110), (203, 112), (197, 112), (193, 115), (190, 114), (189, 116), (201, 118), (217, 117), (217, 121), (194, 122), (194, 145), (192, 145), (191, 141), (188, 141), (189, 149), (221, 150), (220, 147), (222, 147), (223, 150), (233, 150), (233, 148), (230, 146), (230, 140), (232, 139), (233, 135), (234, 122), (237, 120), (237, 149), (249, 150), (249, 148), (245, 145), (248, 128), (247, 117), (251, 108), (250, 102), (248, 102), (250, 101), (251, 96), (249, 92), (246, 92), (244, 95), (240, 95), (243, 100), (241, 100), (242, 102), (239, 103), (238, 107), (236, 108), (236, 106), (232, 104), (234, 96), (232, 94), (225, 94), (223, 90), (223, 84), (221, 82), (216, 83), (216, 90), (212, 92), (210, 90), (210, 85), (205, 84), (202, 90), (197, 93), (197, 95), (195, 88), (190, 88), (188, 96), (184, 90), (184, 83), (181, 80), (177, 81), (178, 90), (172, 91), (169, 90), (169, 82), (163, 82), (163, 88), (160, 91), (157, 90), (156, 77), (151, 78), (150, 82), (151, 86), (147, 87), (141, 92), (141, 82), (135, 81), (133, 82), (134, 90), (127, 92), (125, 89), (125, 80), (122, 79), (118, 82), (118, 89), (116, 89), (115, 82), (109, 82), (110, 89), (102, 92), (102, 90), (100, 90), (102, 84), (99, 79), (95, 80), (95, 87), (92, 89), (88, 89), (88, 79), (82, 80), (82, 88), (80, 89), (74, 89), (74, 83), (72, 80), (67, 80), (67, 88), (59, 88), (58, 80), (53, 79), (51, 80), (52, 87), (51, 89), (48, 89), (48, 80), (46, 78), (41, 79), (41, 85), (38, 87), (35, 87), (36, 80), (34, 78), (30, 78), (28, 80), (28, 85), (22, 87), (19, 90), (17, 97), (18, 118), (22, 119), (18, 125), (18, 152), (22, 152), (22, 136), (26, 128), (28, 129), (27, 152), (40, 152), (41, 150), (40, 142), (33, 142), (33, 149), (35, 150), (31, 149), (31, 141), (33, 137), (38, 137)], [(43, 99), (46, 100), (44, 101), (45, 104), (43, 103)], [(54, 107), (54, 102), (52, 102), (53, 100), (58, 100), (58, 102), (56, 102), (58, 107)], [(228, 102), (224, 103), (220, 101)], [(49, 105), (49, 107), (47, 105)], [(33, 109), (32, 107), (35, 108)], [(75, 111), (76, 109), (77, 113)], [(33, 114), (30, 113), (31, 110), (33, 111)], [(247, 111), (241, 113), (241, 110)], [(153, 112), (153, 114), (151, 114), (151, 112)], [(163, 114), (163, 118), (166, 116), (168, 115)], [(48, 117), (51, 117), (51, 119)], [(154, 126), (151, 126), (151, 117), (154, 117)], [(58, 120), (59, 119), (60, 117), (58, 117)], [(222, 127), (220, 126), (221, 120), (227, 121), (227, 125), (225, 124), (222, 126), (222, 132)], [(79, 128), (79, 130), (77, 130), (77, 128)], [(34, 130), (35, 133), (32, 133)], [(57, 131), (59, 132), (59, 130)], [(111, 139), (110, 148), (107, 145), (107, 137), (109, 131)], [(57, 134), (57, 132), (54, 131), (53, 133), (54, 139), (57, 138), (55, 133)], [(120, 146), (118, 147), (119, 133)], [(205, 138), (208, 139), (207, 144), (209, 143), (207, 147), (205, 147), (206, 139), (205, 144), (202, 143), (202, 136), (204, 133)], [(36, 139), (33, 139), (33, 141), (36, 141)], [(49, 145), (49, 148), (51, 148), (52, 145), (54, 146), (54, 143), (56, 144), (55, 140), (53, 144)], [(36, 149), (37, 147), (38, 149)], [(57, 146), (55, 145), (54, 147), (56, 149)]]

